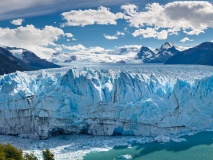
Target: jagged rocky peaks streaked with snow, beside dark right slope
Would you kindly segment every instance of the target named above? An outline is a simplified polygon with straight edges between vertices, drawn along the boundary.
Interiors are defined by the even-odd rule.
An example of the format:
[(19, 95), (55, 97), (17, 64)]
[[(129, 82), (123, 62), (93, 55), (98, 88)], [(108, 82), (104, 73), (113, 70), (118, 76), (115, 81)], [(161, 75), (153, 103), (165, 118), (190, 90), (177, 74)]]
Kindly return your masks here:
[(148, 47), (142, 46), (136, 59), (141, 59), (144, 63), (164, 63), (167, 59), (179, 53), (180, 50), (178, 50), (176, 45), (166, 42), (153, 51)]

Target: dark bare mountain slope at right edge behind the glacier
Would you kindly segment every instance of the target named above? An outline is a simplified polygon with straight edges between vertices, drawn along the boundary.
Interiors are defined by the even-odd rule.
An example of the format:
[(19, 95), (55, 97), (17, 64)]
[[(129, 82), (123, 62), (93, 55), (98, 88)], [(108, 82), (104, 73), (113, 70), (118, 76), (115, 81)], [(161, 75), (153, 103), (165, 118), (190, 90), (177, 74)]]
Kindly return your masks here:
[(182, 51), (168, 59), (165, 64), (201, 64), (213, 65), (213, 42), (204, 42)]

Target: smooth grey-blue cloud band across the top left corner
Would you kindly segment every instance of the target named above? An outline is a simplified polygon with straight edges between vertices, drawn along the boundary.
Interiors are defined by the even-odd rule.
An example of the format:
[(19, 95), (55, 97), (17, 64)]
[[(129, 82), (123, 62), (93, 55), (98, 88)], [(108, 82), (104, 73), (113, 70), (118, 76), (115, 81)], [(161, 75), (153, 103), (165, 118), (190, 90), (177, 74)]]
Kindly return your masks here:
[(70, 9), (118, 5), (131, 3), (131, 1), (133, 0), (1, 0), (0, 20), (44, 15)]

